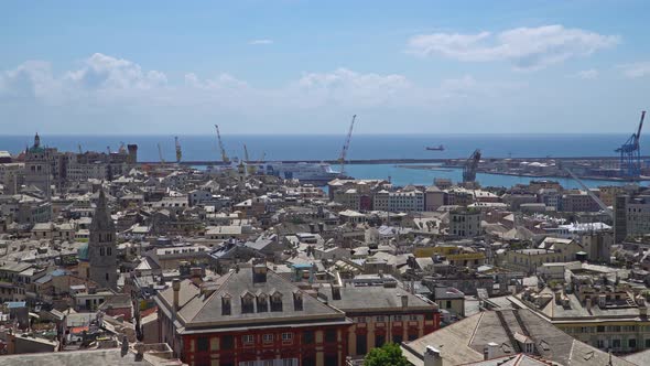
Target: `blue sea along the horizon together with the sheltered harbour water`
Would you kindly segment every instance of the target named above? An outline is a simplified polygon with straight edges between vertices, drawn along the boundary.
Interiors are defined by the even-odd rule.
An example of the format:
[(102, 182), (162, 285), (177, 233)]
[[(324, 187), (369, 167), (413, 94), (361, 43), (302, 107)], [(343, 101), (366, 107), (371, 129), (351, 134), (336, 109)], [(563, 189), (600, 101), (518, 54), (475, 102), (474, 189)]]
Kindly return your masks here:
[[(220, 160), (214, 134), (178, 134), (183, 160)], [(273, 160), (335, 160), (340, 155), (345, 136), (324, 134), (225, 134), (221, 136), (229, 157), (243, 158), (247, 146), (250, 160), (264, 157)], [(466, 158), (480, 149), (486, 158), (544, 157), (615, 157), (615, 149), (627, 140), (625, 134), (355, 134), (347, 159), (423, 159)], [(33, 136), (0, 136), (0, 150), (19, 153), (33, 143)], [(139, 161), (159, 161), (160, 144), (163, 158), (175, 161), (174, 136), (111, 134), (111, 136), (41, 136), (41, 144), (59, 151), (116, 151), (121, 143), (138, 144)], [(444, 146), (444, 151), (429, 151), (426, 147)], [(641, 140), (642, 155), (650, 155), (650, 147)], [(647, 162), (650, 163), (650, 162)], [(333, 166), (338, 169), (338, 166)], [(389, 179), (396, 185), (430, 185), (435, 177), (462, 180), (462, 171), (415, 170), (396, 164), (348, 164), (346, 173), (358, 179)], [(528, 183), (530, 177), (477, 174), (484, 186), (512, 186)], [(578, 187), (577, 182), (555, 179), (565, 187)], [(585, 180), (588, 186), (620, 185), (622, 182)], [(648, 183), (641, 183), (647, 185)]]

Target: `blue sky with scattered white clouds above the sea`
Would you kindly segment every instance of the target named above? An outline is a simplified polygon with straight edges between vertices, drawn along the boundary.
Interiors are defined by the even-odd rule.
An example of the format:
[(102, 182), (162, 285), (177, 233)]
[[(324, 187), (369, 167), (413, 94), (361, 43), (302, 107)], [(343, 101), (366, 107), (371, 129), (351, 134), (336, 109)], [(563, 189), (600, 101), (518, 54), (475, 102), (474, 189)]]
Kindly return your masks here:
[(631, 133), (644, 0), (2, 1), (4, 134)]

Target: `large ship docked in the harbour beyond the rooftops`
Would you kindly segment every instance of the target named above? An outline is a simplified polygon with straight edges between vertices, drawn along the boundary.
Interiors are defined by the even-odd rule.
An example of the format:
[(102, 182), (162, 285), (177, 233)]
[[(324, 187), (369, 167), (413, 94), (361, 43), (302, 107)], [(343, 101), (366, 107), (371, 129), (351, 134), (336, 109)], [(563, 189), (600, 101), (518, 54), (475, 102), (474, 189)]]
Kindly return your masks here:
[(325, 184), (340, 177), (340, 173), (333, 170), (328, 163), (307, 162), (267, 162), (259, 166), (259, 171), (267, 175), (279, 176), (284, 180), (299, 180), (302, 183)]

